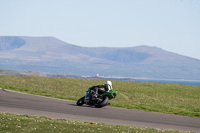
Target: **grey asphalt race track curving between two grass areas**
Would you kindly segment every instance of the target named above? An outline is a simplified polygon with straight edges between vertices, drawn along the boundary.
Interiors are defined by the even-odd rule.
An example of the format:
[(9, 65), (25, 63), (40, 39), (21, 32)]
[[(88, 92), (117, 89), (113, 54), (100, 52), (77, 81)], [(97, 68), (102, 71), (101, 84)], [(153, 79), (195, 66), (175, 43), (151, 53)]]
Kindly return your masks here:
[(80, 120), (200, 132), (200, 118), (178, 116), (115, 107), (76, 106), (74, 101), (24, 94), (0, 88), (0, 112), (46, 116), (56, 119)]

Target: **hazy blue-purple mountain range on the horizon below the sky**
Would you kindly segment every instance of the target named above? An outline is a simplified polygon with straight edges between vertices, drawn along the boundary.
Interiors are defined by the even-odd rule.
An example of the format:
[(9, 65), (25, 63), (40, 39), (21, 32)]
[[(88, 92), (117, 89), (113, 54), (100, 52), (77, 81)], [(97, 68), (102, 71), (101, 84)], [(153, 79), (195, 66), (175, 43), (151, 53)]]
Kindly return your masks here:
[(158, 47), (80, 47), (54, 37), (0, 37), (0, 68), (52, 74), (200, 80), (200, 60)]

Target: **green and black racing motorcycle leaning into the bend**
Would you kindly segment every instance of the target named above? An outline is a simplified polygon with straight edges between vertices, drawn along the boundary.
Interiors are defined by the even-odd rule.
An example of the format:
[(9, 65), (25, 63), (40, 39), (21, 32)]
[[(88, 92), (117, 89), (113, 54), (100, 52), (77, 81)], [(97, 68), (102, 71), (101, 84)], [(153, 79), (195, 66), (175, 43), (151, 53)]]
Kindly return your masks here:
[(108, 105), (108, 101), (115, 98), (117, 96), (117, 92), (109, 91), (109, 92), (104, 92), (103, 94), (95, 94), (95, 92), (91, 89), (88, 89), (86, 91), (86, 96), (81, 97), (77, 101), (78, 106), (82, 106), (83, 104), (86, 105), (94, 105), (96, 108), (101, 108), (103, 106)]

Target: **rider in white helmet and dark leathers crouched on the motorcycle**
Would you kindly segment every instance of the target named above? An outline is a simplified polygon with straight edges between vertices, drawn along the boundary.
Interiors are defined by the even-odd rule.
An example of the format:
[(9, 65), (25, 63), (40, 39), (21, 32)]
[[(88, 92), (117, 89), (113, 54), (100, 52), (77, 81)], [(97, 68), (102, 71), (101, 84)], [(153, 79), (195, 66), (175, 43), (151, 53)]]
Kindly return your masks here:
[[(101, 88), (104, 88), (105, 90), (102, 90)], [(97, 94), (103, 94), (105, 92), (109, 92), (109, 91), (112, 91), (112, 82), (111, 81), (106, 81), (105, 84), (103, 85), (96, 85), (96, 86), (92, 86), (90, 87), (88, 90), (93, 90), (94, 91), (94, 97), (97, 97)], [(86, 95), (85, 95), (85, 102), (88, 102), (89, 101), (89, 92), (87, 91), (86, 92)]]

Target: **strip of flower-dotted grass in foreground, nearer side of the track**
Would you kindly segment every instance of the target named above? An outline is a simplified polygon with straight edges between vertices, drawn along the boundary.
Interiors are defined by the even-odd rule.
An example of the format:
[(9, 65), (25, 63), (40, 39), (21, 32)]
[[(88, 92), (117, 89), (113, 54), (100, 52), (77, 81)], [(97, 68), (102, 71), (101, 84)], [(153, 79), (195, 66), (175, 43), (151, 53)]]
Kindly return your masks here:
[(28, 115), (0, 113), (1, 133), (181, 133), (175, 130), (159, 130), (116, 126), (103, 123), (50, 119)]

